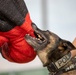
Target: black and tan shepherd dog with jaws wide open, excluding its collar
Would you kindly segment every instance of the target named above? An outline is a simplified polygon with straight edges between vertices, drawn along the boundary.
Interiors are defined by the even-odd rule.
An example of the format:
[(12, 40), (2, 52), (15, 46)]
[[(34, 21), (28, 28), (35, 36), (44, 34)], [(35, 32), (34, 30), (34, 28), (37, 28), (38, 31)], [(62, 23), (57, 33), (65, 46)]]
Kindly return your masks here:
[[(44, 67), (48, 68), (48, 65), (50, 65), (50, 63), (56, 62), (57, 60), (62, 58), (64, 55), (68, 54), (72, 49), (75, 49), (75, 47), (73, 46), (71, 42), (61, 39), (59, 36), (52, 33), (51, 31), (40, 30), (34, 24), (32, 27), (35, 31), (34, 33), (35, 33), (36, 38), (33, 38), (30, 35), (26, 35), (25, 38), (26, 38), (26, 41), (37, 52)], [(70, 62), (71, 61), (69, 61), (69, 63)], [(76, 75), (76, 70), (66, 71), (66, 73), (61, 71), (61, 73), (58, 73), (58, 74), (54, 74), (54, 72), (52, 71), (52, 67), (48, 68), (48, 70), (50, 72), (50, 75)]]

